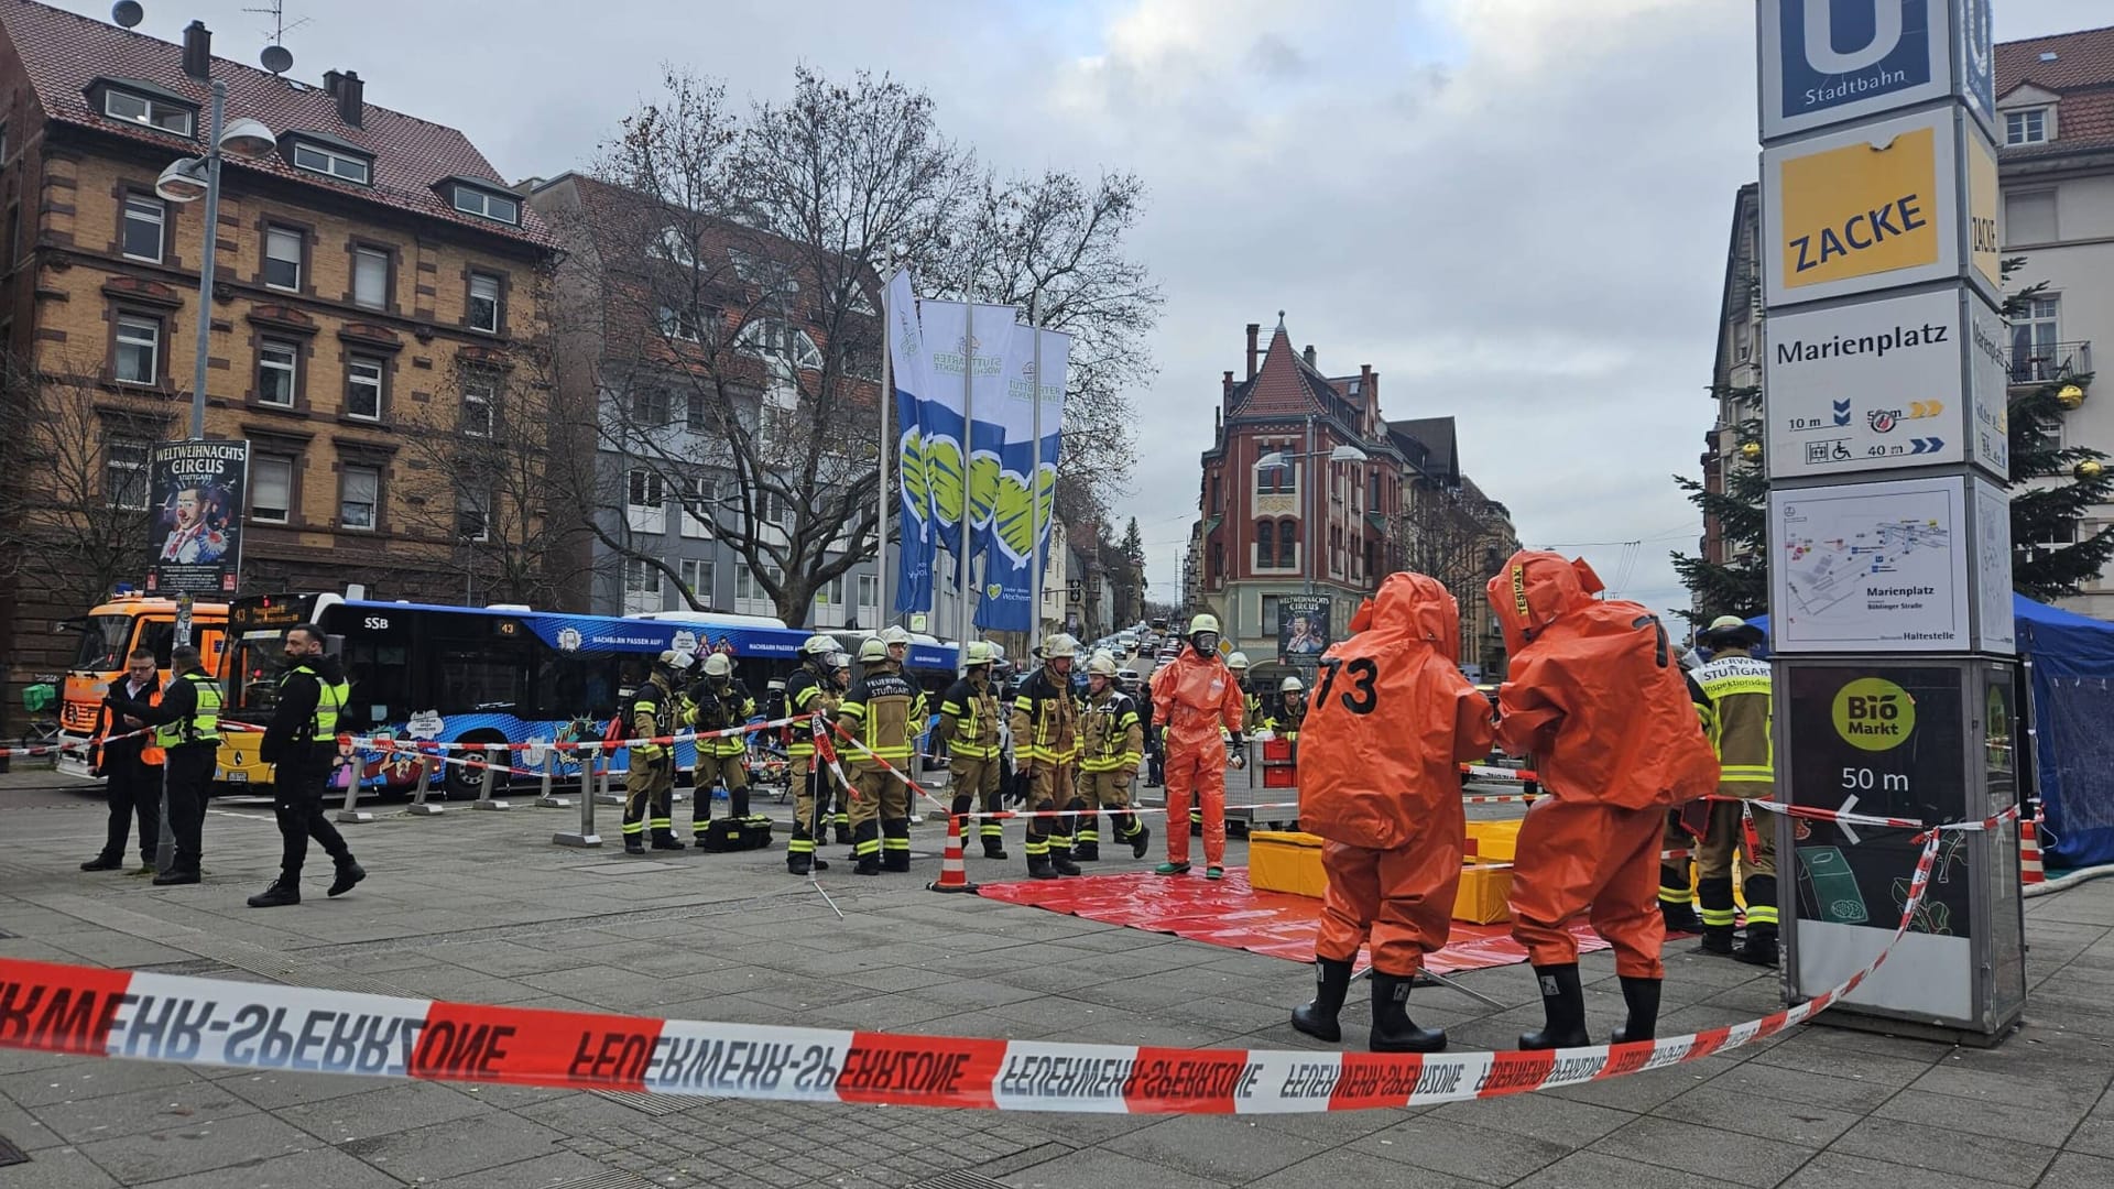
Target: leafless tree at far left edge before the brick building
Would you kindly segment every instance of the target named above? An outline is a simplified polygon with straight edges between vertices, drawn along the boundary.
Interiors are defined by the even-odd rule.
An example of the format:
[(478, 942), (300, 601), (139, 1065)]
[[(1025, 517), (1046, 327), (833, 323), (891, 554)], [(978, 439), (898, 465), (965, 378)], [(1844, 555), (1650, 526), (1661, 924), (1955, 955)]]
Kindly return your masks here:
[(55, 362), (0, 362), (0, 573), (89, 607), (146, 573), (148, 453), (175, 421), (169, 398)]

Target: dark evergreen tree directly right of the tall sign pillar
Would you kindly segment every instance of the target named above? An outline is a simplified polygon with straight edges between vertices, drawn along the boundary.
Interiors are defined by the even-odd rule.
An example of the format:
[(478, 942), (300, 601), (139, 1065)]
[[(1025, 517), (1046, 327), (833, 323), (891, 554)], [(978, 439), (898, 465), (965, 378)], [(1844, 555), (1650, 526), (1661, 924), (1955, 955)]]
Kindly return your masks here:
[[(2004, 260), (2008, 277), (2021, 258)], [(2017, 317), (2046, 290), (2046, 281), (2004, 300), (2004, 317)], [(2017, 360), (2013, 362), (2017, 368)], [(2013, 372), (2017, 374), (2017, 370)], [(2013, 590), (2029, 599), (2076, 594), (2114, 559), (2114, 527), (2078, 537), (2078, 523), (2095, 504), (2114, 501), (2114, 476), (2106, 455), (2089, 446), (2057, 446), (2063, 415), (2091, 385), (2084, 372), (2051, 372), (2044, 383), (2019, 387), (2010, 396), (2010, 546)], [(2067, 402), (2067, 404), (2065, 404)], [(2044, 544), (2070, 542), (2070, 544)]]

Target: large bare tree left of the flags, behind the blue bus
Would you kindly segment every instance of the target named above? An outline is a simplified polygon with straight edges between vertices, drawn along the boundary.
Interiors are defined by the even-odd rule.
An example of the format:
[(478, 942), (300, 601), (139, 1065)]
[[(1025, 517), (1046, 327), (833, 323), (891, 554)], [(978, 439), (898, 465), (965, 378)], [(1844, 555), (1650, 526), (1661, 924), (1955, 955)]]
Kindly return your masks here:
[[(882, 269), (937, 252), (966, 159), (890, 78), (801, 70), (789, 102), (742, 116), (719, 85), (664, 85), (598, 165), (636, 201), (583, 228), (607, 298), (598, 438), (799, 624), (875, 552)], [(668, 573), (622, 518), (594, 525)]]

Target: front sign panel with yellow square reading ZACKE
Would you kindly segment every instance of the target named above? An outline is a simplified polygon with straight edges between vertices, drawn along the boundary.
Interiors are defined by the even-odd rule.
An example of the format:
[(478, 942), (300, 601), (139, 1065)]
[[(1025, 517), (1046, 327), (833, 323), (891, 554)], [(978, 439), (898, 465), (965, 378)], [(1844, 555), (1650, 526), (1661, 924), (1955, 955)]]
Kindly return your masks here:
[(1788, 290), (1939, 262), (1936, 129), (1786, 159), (1778, 193)]

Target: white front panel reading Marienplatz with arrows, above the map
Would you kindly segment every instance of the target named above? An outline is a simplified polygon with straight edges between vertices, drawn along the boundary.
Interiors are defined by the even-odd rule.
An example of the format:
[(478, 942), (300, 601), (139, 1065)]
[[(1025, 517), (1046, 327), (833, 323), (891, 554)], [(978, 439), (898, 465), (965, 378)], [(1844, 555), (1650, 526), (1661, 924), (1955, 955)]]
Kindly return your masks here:
[(1958, 290), (1776, 315), (1769, 478), (1962, 461), (1966, 319)]

